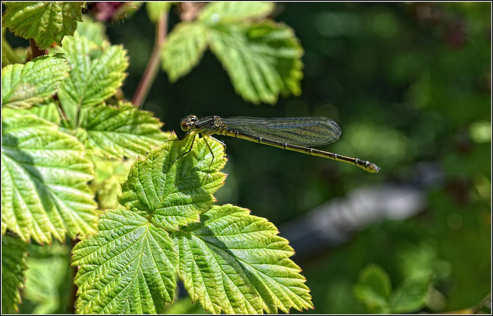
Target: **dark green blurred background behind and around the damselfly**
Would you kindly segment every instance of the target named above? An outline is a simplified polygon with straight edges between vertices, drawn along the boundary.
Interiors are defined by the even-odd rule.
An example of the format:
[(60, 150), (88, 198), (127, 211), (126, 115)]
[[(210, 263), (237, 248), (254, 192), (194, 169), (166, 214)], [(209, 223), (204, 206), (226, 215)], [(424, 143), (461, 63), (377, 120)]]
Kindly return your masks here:
[[(479, 304), (491, 293), (491, 3), (276, 5), (272, 18), (293, 28), (305, 50), (301, 96), (276, 105), (246, 103), (206, 51), (176, 83), (160, 71), (142, 109), (178, 135), (187, 113), (326, 116), (343, 133), (319, 149), (381, 168), (369, 174), (217, 137), (229, 159), (217, 203), (266, 217), (290, 241), (291, 259), (312, 290), (315, 310), (304, 313), (368, 312), (353, 292), (371, 264), (385, 271), (394, 289), (427, 276), (424, 312)], [(169, 30), (178, 22), (174, 6)], [(111, 43), (129, 51), (122, 90), (131, 100), (155, 26), (143, 7), (106, 26)], [(180, 296), (182, 310), (170, 311), (200, 313), (197, 304), (187, 305), (184, 290)]]

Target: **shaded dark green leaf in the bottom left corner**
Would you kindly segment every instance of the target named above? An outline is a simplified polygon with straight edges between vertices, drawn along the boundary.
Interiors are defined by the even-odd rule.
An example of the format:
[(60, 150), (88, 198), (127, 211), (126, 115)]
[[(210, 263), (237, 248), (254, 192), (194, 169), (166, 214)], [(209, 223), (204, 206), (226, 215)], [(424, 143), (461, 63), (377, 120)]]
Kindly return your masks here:
[(19, 288), (24, 286), (27, 244), (5, 235), (1, 237), (1, 252), (1, 312), (13, 314), (21, 303)]

